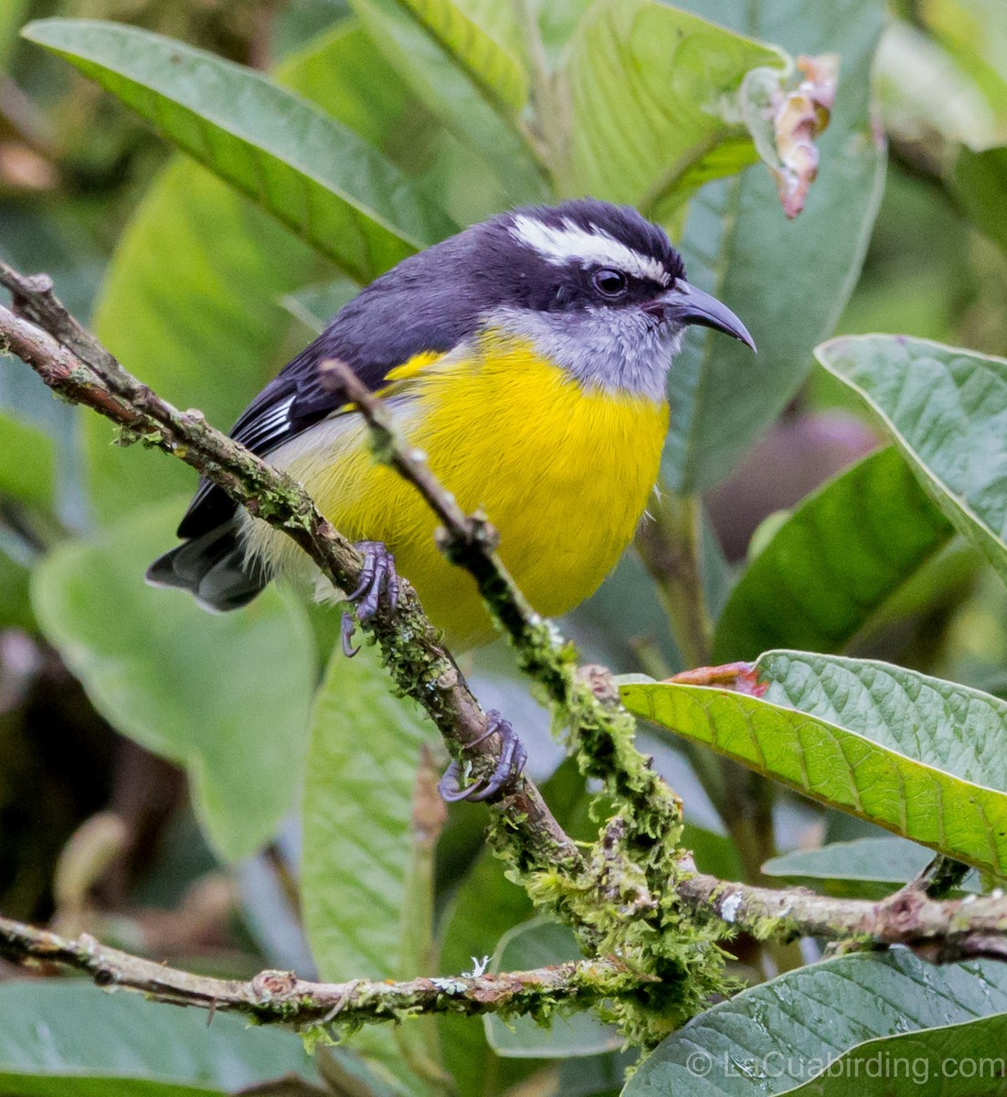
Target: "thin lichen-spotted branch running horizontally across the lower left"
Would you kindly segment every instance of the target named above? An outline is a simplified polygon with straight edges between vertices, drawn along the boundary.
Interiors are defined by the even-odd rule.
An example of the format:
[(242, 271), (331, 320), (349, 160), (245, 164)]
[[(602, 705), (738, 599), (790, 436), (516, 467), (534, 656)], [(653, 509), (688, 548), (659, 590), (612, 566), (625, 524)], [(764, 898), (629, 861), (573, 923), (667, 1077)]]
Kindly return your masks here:
[(619, 960), (567, 962), (498, 975), (467, 974), (394, 983), (352, 980), (312, 983), (287, 971), (262, 971), (247, 982), (195, 975), (121, 952), (87, 934), (60, 937), (0, 918), (0, 958), (70, 968), (104, 987), (138, 991), (158, 1002), (245, 1014), (260, 1024), (295, 1027), (400, 1020), (410, 1014), (542, 1014), (578, 1008), (640, 991), (641, 979)]

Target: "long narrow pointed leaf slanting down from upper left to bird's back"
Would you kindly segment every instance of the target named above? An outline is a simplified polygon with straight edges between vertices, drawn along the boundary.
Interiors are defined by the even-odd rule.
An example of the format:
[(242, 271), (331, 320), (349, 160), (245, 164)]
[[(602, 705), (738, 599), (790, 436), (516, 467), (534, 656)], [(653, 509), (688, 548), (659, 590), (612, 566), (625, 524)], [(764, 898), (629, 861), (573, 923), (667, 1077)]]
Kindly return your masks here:
[(42, 20), (23, 33), (360, 281), (455, 230), (377, 149), (252, 69), (113, 23)]

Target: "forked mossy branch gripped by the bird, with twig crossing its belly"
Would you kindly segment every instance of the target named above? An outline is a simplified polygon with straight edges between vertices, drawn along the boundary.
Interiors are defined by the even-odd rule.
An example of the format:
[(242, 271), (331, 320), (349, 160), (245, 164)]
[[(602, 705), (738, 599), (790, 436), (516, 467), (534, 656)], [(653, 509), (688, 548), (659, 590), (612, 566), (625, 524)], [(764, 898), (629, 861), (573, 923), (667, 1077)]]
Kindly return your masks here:
[[(11, 289), (15, 309), (24, 314), (0, 308), (0, 336), (49, 387), (100, 411), (129, 440), (199, 470), (292, 536), (337, 587), (357, 585), (360, 555), (299, 485), (210, 427), (200, 412), (178, 411), (131, 376), (63, 308), (48, 279), (25, 279), (0, 264), (0, 283)], [(58, 340), (49, 332), (58, 332)], [(378, 455), (416, 483), (409, 448), (391, 423), (380, 421), (373, 398), (359, 389), (355, 396), (362, 409), (370, 409)], [(524, 603), (500, 567), (488, 525), (453, 513), (450, 496), (432, 477), (426, 490), (448, 524), (445, 551), (475, 576), (521, 666), (548, 692), (581, 770), (604, 782), (618, 807), (599, 841), (581, 852), (522, 777), (513, 792), (490, 806), (493, 845), (514, 882), (567, 923), (587, 954), (619, 949), (635, 973), (637, 994), (633, 1002), (616, 1003), (616, 1010), (622, 1009), (627, 1036), (653, 1043), (723, 988), (715, 935), (705, 927), (693, 930), (681, 918), (671, 886), (680, 803), (633, 746), (633, 717), (620, 705), (608, 671), (578, 670), (574, 649)], [(411, 588), (404, 585), (397, 610), (383, 609), (367, 629), (396, 687), (426, 709), (451, 753), (474, 758), (476, 776), (491, 769), (496, 745), (495, 737), (483, 739), (486, 715)]]

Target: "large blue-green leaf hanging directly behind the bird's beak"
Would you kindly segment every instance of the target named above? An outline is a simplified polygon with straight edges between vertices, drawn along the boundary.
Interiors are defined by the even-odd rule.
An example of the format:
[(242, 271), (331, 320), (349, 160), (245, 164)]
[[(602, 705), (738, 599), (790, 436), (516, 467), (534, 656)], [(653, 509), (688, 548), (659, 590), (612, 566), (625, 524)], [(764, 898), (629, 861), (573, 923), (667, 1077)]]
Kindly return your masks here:
[(884, 150), (870, 117), (870, 71), (885, 5), (683, 5), (793, 55), (840, 56), (831, 121), (816, 142), (818, 178), (795, 220), (783, 216), (776, 183), (761, 165), (708, 184), (689, 205), (680, 241), (689, 280), (733, 308), (759, 347), (753, 358), (742, 343), (693, 330), (675, 360), (663, 470), (671, 487), (694, 493), (721, 480), (787, 405), (856, 284), (884, 180)]

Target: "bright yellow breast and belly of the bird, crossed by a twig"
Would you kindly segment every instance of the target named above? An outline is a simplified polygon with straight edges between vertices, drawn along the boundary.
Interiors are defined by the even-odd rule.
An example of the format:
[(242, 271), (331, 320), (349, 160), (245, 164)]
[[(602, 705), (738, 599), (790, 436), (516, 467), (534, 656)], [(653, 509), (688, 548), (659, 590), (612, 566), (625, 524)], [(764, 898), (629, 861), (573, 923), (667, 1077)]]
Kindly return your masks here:
[[(409, 382), (401, 425), (462, 508), (482, 507), (497, 527), (500, 556), (535, 609), (557, 615), (597, 589), (632, 539), (668, 408), (586, 392), (527, 344), (487, 337), (476, 357)], [(276, 463), (340, 532), (388, 545), (457, 649), (493, 638), (474, 581), (437, 550), (437, 519), (411, 485), (374, 463), (359, 418), (332, 420), (324, 434), (310, 449), (291, 443)], [(288, 553), (251, 540), (269, 558)]]

